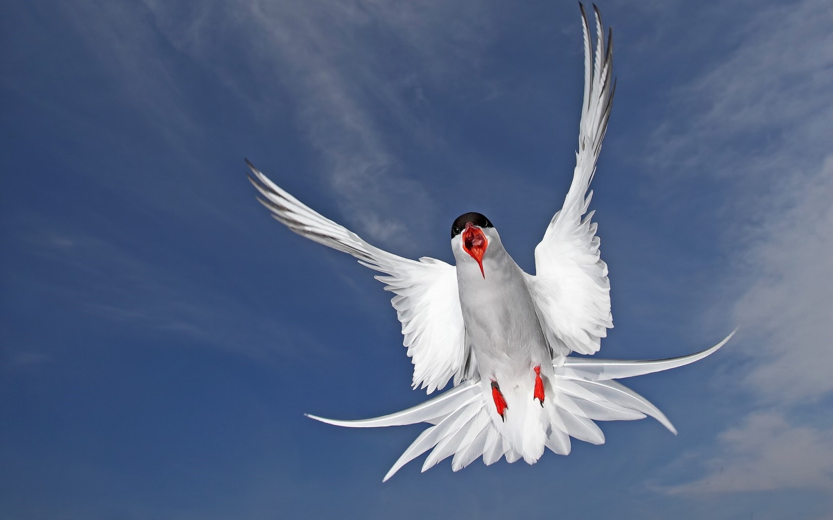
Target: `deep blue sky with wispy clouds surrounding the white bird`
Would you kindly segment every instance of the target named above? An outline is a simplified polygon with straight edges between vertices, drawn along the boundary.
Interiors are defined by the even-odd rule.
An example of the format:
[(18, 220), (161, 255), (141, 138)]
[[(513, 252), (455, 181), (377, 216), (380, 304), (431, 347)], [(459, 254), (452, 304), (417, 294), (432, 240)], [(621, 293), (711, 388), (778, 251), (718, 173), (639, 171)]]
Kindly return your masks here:
[(519, 264), (569, 185), (574, 2), (4, 2), (0, 518), (831, 518), (833, 7), (602, 2), (610, 358), (680, 434), (382, 476), (421, 426), (389, 294), (243, 157), (402, 255)]

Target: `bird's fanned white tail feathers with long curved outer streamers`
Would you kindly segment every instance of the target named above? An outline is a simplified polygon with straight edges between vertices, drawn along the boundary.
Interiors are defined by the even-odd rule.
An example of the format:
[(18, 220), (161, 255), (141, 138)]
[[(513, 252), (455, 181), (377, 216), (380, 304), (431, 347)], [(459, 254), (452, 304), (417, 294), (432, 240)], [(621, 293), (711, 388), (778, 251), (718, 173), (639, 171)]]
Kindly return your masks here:
[[(554, 453), (566, 455), (570, 453), (571, 437), (601, 444), (605, 442), (605, 436), (593, 421), (633, 420), (645, 418), (646, 415), (656, 418), (671, 433), (676, 434), (676, 429), (665, 414), (640, 394), (636, 394), (615, 379), (661, 372), (694, 363), (720, 349), (734, 334), (735, 331), (732, 331), (711, 349), (680, 358), (631, 361), (567, 357), (562, 366), (555, 367), (555, 375), (551, 381), (555, 395), (554, 406), (547, 407), (546, 412), (546, 448), (550, 448)], [(550, 399), (549, 394), (547, 399)], [(490, 407), (493, 406), (484, 397), (480, 382), (469, 380), (434, 399), (382, 417), (352, 421), (310, 414), (307, 414), (307, 417), (349, 428), (433, 424), (414, 440), (405, 453), (402, 453), (385, 475), (382, 480), (384, 482), (391, 478), (393, 473), (397, 473), (399, 468), (431, 448), (433, 450), (422, 464), (422, 471), (451, 455), (454, 456), (451, 460), (451, 468), (454, 471), (465, 468), (479, 457), (483, 458), (486, 465), (496, 463), (504, 456), (509, 463), (521, 458), (521, 453), (511, 446), (490, 417)], [(491, 410), (491, 413), (494, 411)]]

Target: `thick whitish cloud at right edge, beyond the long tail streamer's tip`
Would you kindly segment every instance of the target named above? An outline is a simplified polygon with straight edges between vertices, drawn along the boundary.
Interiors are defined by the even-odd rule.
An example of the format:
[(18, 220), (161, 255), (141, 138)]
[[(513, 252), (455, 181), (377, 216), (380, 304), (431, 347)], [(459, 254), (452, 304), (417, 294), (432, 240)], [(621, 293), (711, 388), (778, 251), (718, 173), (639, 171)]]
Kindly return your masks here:
[(786, 196), (742, 253), (751, 286), (734, 310), (756, 361), (741, 383), (781, 404), (833, 390), (833, 156)]

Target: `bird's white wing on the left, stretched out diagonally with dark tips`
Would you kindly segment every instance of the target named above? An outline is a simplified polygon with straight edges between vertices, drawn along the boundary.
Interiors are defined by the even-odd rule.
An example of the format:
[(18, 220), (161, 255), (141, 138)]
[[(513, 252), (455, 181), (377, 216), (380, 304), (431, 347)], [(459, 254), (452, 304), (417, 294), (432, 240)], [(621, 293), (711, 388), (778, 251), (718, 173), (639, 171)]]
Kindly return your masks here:
[(319, 244), (350, 253), (359, 263), (387, 276), (375, 278), (397, 295), (391, 300), (402, 322), (403, 344), (414, 364), (413, 386), (431, 394), (451, 377), (458, 384), (466, 373), (469, 349), (457, 293), (457, 271), (441, 260), (416, 260), (392, 255), (302, 204), (270, 181), (246, 161), (252, 170), (249, 180), (260, 191), (258, 197), (272, 216), (298, 235)]

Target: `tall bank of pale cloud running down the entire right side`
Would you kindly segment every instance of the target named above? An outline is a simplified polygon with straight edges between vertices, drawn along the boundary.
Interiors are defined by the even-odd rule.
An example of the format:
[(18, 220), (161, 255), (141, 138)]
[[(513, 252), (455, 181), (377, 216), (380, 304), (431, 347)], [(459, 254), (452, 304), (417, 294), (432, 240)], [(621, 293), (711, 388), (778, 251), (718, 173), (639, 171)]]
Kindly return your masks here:
[(701, 477), (674, 493), (831, 488), (833, 429), (798, 412), (833, 390), (833, 9), (805, 0), (744, 13), (724, 59), (673, 92), (675, 117), (648, 161), (729, 194), (721, 238), (734, 269), (717, 286), (742, 326), (729, 352), (746, 362), (721, 388), (753, 396), (739, 425), (696, 454)]

